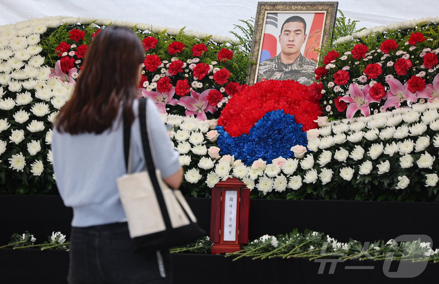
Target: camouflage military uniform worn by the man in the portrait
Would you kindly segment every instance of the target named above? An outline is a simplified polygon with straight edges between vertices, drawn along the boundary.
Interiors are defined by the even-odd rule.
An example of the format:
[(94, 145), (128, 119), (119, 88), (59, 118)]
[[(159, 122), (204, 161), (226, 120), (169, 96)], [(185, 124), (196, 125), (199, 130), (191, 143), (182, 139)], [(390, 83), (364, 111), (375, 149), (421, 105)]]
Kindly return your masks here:
[(281, 62), (281, 54), (268, 58), (259, 63), (258, 82), (262, 78), (274, 80), (295, 80), (304, 85), (310, 85), (315, 78), (314, 70), (317, 63), (299, 54), (296, 62), (284, 64)]

